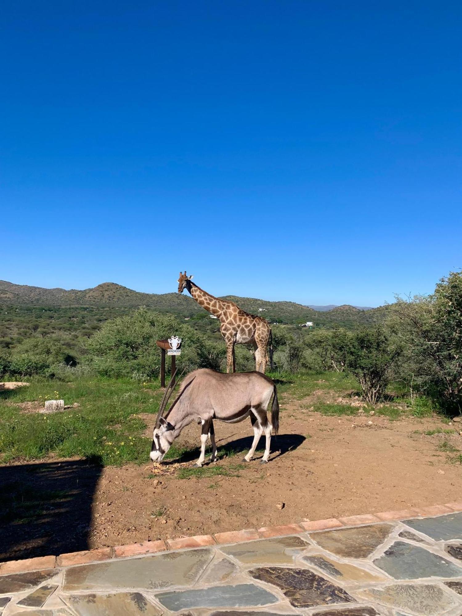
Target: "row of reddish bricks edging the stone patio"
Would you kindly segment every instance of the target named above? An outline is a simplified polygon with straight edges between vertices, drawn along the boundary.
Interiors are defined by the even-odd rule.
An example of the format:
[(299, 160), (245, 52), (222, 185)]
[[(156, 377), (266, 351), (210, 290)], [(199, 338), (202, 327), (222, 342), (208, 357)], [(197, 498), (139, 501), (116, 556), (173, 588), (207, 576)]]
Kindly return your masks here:
[(70, 565), (83, 565), (89, 562), (107, 561), (109, 559), (126, 558), (129, 556), (142, 556), (142, 554), (154, 554), (166, 550), (200, 548), (209, 545), (223, 545), (225, 543), (241, 543), (243, 541), (266, 539), (270, 537), (283, 537), (283, 535), (298, 535), (300, 533), (316, 532), (318, 530), (341, 529), (347, 526), (404, 520), (408, 517), (442, 516), (455, 512), (462, 512), (462, 501), (460, 503), (446, 503), (445, 505), (403, 509), (402, 511), (381, 511), (376, 514), (339, 517), (338, 519), (336, 517), (330, 517), (326, 520), (300, 522), (299, 524), (285, 524), (282, 526), (269, 526), (258, 530), (232, 530), (230, 532), (215, 533), (214, 535), (196, 535), (195, 537), (167, 539), (166, 541), (129, 543), (128, 545), (115, 546), (115, 548), (97, 548), (83, 552), (60, 554), (59, 556), (39, 556), (37, 558), (26, 558), (22, 561), (2, 562), (0, 563), (0, 575), (54, 569), (55, 567), (68, 567)]

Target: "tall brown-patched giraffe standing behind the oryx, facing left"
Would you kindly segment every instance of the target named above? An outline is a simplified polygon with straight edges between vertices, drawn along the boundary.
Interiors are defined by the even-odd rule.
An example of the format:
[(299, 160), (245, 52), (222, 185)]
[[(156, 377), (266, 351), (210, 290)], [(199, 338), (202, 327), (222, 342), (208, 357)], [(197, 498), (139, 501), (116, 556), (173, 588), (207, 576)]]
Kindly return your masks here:
[(236, 359), (234, 355), (235, 344), (248, 344), (251, 342), (255, 349), (255, 363), (258, 372), (265, 373), (268, 362), (267, 346), (270, 342), (270, 365), (273, 367), (273, 346), (271, 328), (266, 319), (256, 317), (241, 310), (234, 302), (215, 298), (195, 283), (191, 282), (192, 276), (186, 272), (178, 279), (178, 293), (186, 289), (199, 306), (219, 318), (220, 331), (226, 342), (226, 371), (236, 371)]

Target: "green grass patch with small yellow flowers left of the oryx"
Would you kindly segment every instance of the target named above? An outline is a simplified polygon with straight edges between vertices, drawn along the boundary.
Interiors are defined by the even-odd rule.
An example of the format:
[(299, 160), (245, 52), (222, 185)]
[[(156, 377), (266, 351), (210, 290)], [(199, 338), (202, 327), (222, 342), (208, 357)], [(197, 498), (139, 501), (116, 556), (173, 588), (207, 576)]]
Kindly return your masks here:
[[(156, 387), (150, 384), (150, 389)], [(154, 415), (161, 394), (143, 390), (133, 381), (81, 379), (60, 384), (38, 381), (0, 392), (0, 459), (3, 463), (39, 460), (53, 453), (94, 458), (103, 464), (146, 462), (150, 439), (142, 436), (146, 424), (137, 413)], [(21, 413), (15, 406), (47, 397), (80, 406), (50, 415)]]

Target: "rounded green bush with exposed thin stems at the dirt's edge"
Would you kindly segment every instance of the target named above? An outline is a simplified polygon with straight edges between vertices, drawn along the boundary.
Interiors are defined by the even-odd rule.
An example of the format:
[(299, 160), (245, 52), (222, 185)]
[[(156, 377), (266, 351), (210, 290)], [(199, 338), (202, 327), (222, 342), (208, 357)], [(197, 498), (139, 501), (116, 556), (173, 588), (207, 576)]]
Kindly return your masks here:
[(382, 325), (352, 334), (347, 370), (358, 379), (367, 402), (375, 404), (383, 397), (401, 352), (400, 344), (391, 339)]

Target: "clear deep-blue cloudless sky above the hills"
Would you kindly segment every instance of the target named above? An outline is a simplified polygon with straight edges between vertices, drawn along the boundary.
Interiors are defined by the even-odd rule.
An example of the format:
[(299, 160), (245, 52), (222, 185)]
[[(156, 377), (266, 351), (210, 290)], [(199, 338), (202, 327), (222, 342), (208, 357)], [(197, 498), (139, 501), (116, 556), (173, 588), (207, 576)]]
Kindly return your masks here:
[(462, 267), (462, 3), (3, 0), (0, 278), (376, 306)]

